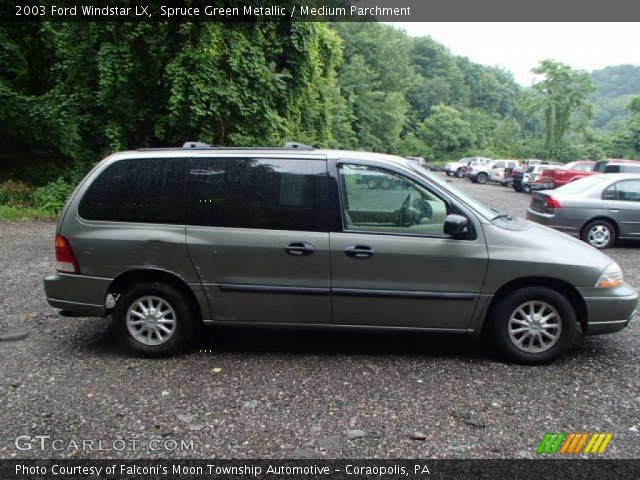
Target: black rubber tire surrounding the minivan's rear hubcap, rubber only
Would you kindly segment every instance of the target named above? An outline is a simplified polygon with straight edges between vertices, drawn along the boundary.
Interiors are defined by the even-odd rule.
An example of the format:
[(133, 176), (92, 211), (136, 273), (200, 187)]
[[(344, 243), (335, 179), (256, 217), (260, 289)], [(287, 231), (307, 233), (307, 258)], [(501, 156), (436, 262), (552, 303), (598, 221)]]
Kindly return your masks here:
[[(157, 345), (148, 345), (136, 339), (127, 326), (127, 314), (129, 308), (144, 297), (162, 299), (169, 305), (175, 315), (175, 323), (171, 328), (173, 333)], [(166, 311), (166, 310), (165, 310)], [(164, 357), (175, 355), (185, 349), (193, 340), (200, 319), (195, 312), (194, 305), (180, 290), (161, 282), (138, 283), (124, 291), (113, 310), (113, 324), (118, 340), (129, 350), (148, 357)], [(136, 329), (135, 326), (132, 326)], [(141, 329), (146, 327), (141, 326)], [(153, 339), (153, 334), (149, 338)], [(156, 334), (156, 340), (160, 341)]]

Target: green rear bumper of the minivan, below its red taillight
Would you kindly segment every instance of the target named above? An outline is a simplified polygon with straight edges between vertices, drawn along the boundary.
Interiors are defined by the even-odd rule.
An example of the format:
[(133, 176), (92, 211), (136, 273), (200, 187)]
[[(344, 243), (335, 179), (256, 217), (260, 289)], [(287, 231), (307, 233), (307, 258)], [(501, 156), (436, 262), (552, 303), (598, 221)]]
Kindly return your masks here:
[(110, 278), (56, 273), (44, 279), (47, 302), (54, 308), (77, 316), (106, 315), (106, 297)]

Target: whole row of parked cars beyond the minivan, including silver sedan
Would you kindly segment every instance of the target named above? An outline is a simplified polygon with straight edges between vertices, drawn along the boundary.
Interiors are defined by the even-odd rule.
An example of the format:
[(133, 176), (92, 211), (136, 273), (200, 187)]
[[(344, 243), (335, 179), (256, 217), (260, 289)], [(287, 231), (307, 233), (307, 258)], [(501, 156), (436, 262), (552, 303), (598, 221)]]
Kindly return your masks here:
[(567, 164), (537, 159), (463, 158), (447, 175), (497, 182), (532, 193), (527, 219), (604, 249), (619, 238), (640, 239), (640, 162), (609, 159)]

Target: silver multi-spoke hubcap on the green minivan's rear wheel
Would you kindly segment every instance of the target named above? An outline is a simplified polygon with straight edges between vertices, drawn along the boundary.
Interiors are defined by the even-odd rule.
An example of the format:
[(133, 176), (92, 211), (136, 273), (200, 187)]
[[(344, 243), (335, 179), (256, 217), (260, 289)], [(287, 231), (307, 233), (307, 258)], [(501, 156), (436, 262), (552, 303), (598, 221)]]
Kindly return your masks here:
[(134, 300), (127, 310), (127, 329), (133, 338), (144, 345), (160, 345), (176, 331), (176, 313), (160, 297)]

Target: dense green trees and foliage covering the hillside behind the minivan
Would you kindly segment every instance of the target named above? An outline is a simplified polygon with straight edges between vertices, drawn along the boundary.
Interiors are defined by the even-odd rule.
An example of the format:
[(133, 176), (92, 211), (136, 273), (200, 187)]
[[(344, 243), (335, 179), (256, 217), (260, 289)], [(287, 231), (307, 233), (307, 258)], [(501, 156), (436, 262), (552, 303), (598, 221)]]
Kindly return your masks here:
[(110, 152), (186, 140), (431, 160), (638, 156), (638, 69), (594, 73), (595, 93), (565, 65), (538, 70), (525, 91), (379, 23), (5, 23), (0, 204), (54, 212)]

